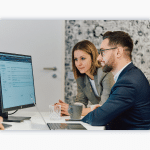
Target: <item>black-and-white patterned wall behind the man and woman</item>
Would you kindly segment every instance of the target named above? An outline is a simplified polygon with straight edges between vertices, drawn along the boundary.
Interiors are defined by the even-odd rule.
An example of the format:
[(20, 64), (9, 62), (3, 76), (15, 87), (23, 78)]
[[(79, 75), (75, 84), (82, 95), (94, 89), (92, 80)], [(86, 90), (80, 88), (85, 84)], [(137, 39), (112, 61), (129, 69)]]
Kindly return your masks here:
[(128, 32), (134, 41), (132, 61), (150, 82), (150, 21), (149, 20), (66, 20), (65, 21), (65, 102), (74, 101), (77, 85), (73, 77), (71, 53), (73, 46), (84, 39), (100, 48), (106, 31)]

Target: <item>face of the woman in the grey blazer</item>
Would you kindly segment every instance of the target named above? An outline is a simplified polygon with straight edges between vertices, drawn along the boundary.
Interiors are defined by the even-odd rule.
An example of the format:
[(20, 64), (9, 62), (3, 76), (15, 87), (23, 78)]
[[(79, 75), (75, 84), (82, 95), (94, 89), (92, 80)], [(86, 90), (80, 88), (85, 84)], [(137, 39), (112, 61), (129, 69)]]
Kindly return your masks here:
[(81, 74), (83, 73), (87, 75), (90, 74), (92, 59), (88, 53), (82, 50), (75, 50), (74, 61), (75, 61), (75, 66), (77, 67), (77, 69)]

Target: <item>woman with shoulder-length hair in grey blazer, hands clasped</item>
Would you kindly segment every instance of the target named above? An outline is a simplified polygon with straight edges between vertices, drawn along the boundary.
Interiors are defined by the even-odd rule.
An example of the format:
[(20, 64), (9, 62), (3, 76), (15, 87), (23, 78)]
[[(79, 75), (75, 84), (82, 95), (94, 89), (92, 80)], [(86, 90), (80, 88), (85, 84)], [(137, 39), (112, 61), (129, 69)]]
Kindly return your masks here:
[[(97, 57), (96, 47), (88, 40), (78, 42), (72, 51), (72, 68), (77, 82), (75, 103), (83, 104), (83, 116), (92, 111), (95, 104), (105, 103), (114, 84), (112, 73), (102, 71)], [(69, 104), (59, 100), (57, 105), (61, 105), (62, 115), (69, 115)]]

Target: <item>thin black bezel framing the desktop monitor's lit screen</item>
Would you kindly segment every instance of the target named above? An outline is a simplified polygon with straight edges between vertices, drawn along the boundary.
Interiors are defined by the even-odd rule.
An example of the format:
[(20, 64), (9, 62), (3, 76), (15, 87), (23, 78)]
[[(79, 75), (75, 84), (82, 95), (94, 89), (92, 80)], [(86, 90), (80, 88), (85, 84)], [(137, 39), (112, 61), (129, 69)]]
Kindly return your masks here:
[(31, 57), (32, 76), (33, 76), (33, 87), (34, 87), (34, 97), (35, 97), (35, 103), (26, 104), (26, 105), (20, 105), (20, 106), (15, 106), (15, 107), (10, 107), (10, 108), (4, 108), (4, 107), (3, 107), (2, 88), (1, 88), (1, 78), (0, 78), (0, 95), (1, 95), (1, 96), (0, 96), (0, 101), (1, 101), (1, 110), (2, 110), (2, 113), (6, 113), (6, 112), (8, 112), (8, 111), (13, 111), (13, 110), (18, 110), (18, 109), (24, 109), (24, 108), (34, 107), (35, 104), (36, 104), (36, 96), (35, 96), (35, 85), (34, 85), (32, 56), (31, 56), (31, 55), (24, 55), (24, 54), (16, 54), (16, 53), (6, 53), (6, 52), (0, 52), (0, 54)]

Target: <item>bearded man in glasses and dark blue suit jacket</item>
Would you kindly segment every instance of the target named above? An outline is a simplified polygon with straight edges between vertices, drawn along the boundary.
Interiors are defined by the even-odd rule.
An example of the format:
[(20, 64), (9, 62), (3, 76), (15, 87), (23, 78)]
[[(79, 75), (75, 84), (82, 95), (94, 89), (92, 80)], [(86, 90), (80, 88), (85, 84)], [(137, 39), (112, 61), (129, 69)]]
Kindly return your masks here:
[(107, 101), (82, 121), (108, 130), (150, 129), (150, 86), (131, 62), (133, 41), (122, 31), (106, 32), (97, 60), (104, 72), (112, 72), (115, 84)]

